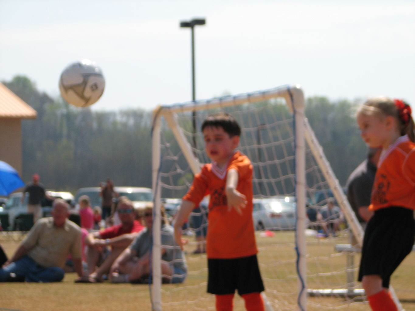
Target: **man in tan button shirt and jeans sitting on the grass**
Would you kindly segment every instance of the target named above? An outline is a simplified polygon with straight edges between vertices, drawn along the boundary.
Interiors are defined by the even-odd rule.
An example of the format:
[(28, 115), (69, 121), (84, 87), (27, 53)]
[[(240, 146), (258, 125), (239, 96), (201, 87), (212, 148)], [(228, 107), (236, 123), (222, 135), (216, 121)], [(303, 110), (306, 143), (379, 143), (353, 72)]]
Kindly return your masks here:
[(10, 260), (0, 269), (0, 282), (59, 282), (68, 254), (82, 277), (81, 228), (67, 218), (69, 205), (63, 199), (53, 203), (52, 217), (36, 222)]

